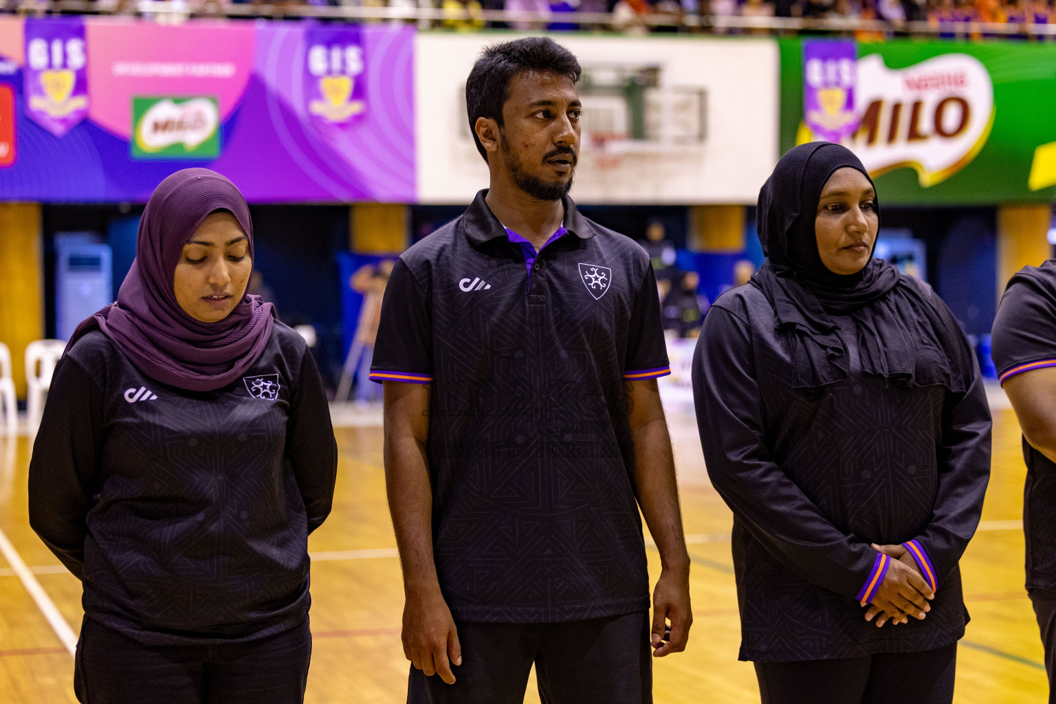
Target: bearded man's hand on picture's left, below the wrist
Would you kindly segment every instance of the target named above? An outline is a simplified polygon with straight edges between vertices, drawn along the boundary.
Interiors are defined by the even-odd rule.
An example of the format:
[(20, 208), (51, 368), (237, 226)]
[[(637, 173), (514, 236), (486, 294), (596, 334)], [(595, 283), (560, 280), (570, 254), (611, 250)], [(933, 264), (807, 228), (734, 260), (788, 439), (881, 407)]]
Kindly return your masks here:
[(461, 646), (439, 587), (408, 590), (403, 604), (403, 655), (427, 676), (454, 684), (451, 663), (461, 665)]

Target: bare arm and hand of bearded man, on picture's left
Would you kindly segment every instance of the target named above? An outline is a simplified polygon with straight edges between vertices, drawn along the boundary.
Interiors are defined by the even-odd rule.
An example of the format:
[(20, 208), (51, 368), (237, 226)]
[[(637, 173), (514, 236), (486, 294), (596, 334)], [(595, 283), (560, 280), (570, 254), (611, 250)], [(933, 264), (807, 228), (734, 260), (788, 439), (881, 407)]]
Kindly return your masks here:
[(429, 386), (384, 382), (384, 426), (385, 492), (403, 569), (403, 654), (452, 684), (450, 663), (461, 665), (461, 647), (433, 560)]

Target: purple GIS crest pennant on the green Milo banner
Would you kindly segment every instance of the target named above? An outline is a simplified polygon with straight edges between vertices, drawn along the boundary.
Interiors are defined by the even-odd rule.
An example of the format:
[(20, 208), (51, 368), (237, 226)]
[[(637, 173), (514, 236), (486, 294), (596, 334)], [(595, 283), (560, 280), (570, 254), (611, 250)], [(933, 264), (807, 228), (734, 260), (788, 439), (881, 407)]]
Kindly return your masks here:
[(857, 130), (856, 73), (853, 40), (803, 43), (803, 116), (815, 139), (840, 142)]

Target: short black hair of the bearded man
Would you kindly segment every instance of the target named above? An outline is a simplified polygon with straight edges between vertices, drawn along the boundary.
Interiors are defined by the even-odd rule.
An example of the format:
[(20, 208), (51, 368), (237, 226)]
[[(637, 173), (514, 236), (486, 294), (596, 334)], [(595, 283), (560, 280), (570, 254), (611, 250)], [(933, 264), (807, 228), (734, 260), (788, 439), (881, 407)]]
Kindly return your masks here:
[(503, 106), (510, 97), (510, 81), (524, 71), (563, 74), (579, 82), (583, 70), (567, 49), (549, 37), (525, 37), (492, 44), (480, 53), (466, 79), (466, 112), (476, 150), (488, 160), (476, 136), (478, 117), (490, 117), (503, 126)]

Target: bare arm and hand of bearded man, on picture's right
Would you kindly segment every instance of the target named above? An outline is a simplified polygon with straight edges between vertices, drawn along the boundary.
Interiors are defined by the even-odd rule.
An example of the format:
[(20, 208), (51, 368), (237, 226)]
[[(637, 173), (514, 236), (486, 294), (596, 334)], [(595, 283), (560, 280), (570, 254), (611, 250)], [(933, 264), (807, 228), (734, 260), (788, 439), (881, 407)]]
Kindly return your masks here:
[[(682, 533), (675, 457), (656, 379), (626, 382), (627, 421), (635, 443), (635, 491), (660, 551), (660, 578), (653, 592), (653, 653), (663, 658), (685, 650), (693, 625), (690, 607), (690, 555)], [(671, 632), (665, 633), (671, 622)]]

